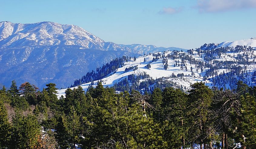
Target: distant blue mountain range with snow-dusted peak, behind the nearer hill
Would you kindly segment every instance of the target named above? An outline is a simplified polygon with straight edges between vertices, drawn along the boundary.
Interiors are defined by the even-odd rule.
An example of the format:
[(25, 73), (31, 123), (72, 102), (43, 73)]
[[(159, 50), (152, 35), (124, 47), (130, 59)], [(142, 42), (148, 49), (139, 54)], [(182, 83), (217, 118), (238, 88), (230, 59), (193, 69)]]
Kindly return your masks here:
[(58, 88), (116, 57), (140, 56), (166, 50), (153, 45), (119, 45), (105, 42), (75, 25), (54, 22), (34, 24), (0, 22), (0, 83), (10, 86), (30, 82), (42, 89)]

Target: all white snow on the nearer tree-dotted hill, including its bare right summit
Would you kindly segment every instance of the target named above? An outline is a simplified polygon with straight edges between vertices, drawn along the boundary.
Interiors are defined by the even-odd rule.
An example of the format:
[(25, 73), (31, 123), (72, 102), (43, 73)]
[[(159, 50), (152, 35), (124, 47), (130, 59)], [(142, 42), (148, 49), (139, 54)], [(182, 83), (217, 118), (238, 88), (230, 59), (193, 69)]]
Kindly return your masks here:
[[(241, 50), (238, 53), (235, 53), (234, 50), (231, 51), (229, 50), (226, 53), (221, 53), (220, 55), (215, 54), (214, 57), (215, 59), (208, 62), (208, 63), (212, 63), (213, 61), (220, 61), (220, 62), (225, 62), (225, 61), (234, 61), (237, 62), (238, 59), (237, 57), (247, 57), (248, 61), (253, 62), (256, 58), (256, 39), (247, 39), (247, 40), (238, 40), (238, 41), (232, 41), (232, 42), (223, 42), (221, 44), (218, 45), (218, 47), (235, 47), (236, 45), (245, 45), (247, 47), (251, 46), (254, 47), (254, 50), (252, 51), (246, 51)], [(218, 48), (217, 47), (217, 48)], [(167, 58), (168, 59), (168, 68), (167, 70), (164, 69), (164, 64), (163, 58), (162, 56), (167, 56), (168, 54), (172, 55), (174, 54), (177, 58), (172, 59), (172, 58)], [(206, 85), (208, 85), (209, 87), (213, 86), (213, 83), (211, 82), (211, 77), (208, 77), (205, 81), (203, 80), (203, 76), (205, 76), (205, 73), (207, 70), (209, 70), (209, 68), (204, 68), (202, 67), (201, 69), (197, 69), (195, 64), (191, 64), (189, 61), (185, 60), (185, 66), (187, 67), (187, 70), (185, 69), (185, 67), (183, 69), (181, 69), (181, 67), (179, 66), (181, 64), (181, 58), (179, 57), (182, 54), (185, 54), (189, 57), (192, 56), (192, 59), (201, 61), (203, 63), (205, 63), (206, 61), (204, 60), (204, 53), (200, 53), (199, 55), (197, 54), (197, 52), (194, 51), (194, 53), (191, 55), (189, 53), (185, 52), (181, 52), (181, 51), (164, 51), (164, 52), (156, 52), (154, 54), (161, 54), (161, 57), (152, 62), (153, 58), (156, 58), (153, 56), (153, 54), (148, 54), (148, 55), (144, 55), (141, 57), (136, 58), (136, 60), (131, 60), (129, 62), (125, 62), (125, 65), (121, 68), (118, 68), (115, 72), (109, 74), (107, 77), (101, 79), (102, 84), (104, 87), (108, 86), (111, 87), (113, 86), (115, 83), (120, 82), (122, 79), (124, 79), (125, 77), (128, 77), (128, 75), (130, 74), (141, 74), (141, 73), (146, 73), (148, 75), (150, 75), (153, 79), (158, 79), (158, 78), (162, 78), (163, 80), (168, 80), (170, 81), (172, 84), (175, 84), (175, 87), (178, 88), (185, 88), (185, 90), (189, 90), (191, 89), (191, 84), (196, 83), (196, 82), (204, 82)], [(159, 56), (158, 56), (159, 57)], [(166, 59), (166, 57), (165, 57)], [(178, 63), (177, 63), (178, 62)], [(147, 69), (146, 65), (150, 64), (151, 68)], [(177, 64), (179, 64), (177, 66)], [(216, 65), (216, 64), (215, 64)], [(125, 72), (126, 68), (132, 67), (132, 66), (137, 66), (138, 69), (133, 71), (130, 70), (128, 72)], [(248, 71), (249, 77), (251, 77), (252, 73), (256, 70), (256, 66), (255, 65), (240, 65), (243, 69), (246, 66), (246, 69)], [(192, 71), (191, 71), (191, 67), (192, 67)], [(221, 73), (228, 73), (232, 71), (231, 69), (219, 69), (216, 71), (215, 74), (219, 75)], [(193, 73), (192, 73), (193, 72)], [(172, 74), (176, 75), (177, 74), (181, 74), (183, 73), (184, 76), (183, 77), (172, 77)], [(250, 78), (248, 78), (250, 79)], [(97, 86), (97, 82), (100, 80), (95, 80), (95, 84), (93, 85), (93, 87)], [(140, 82), (142, 82), (144, 80), (141, 80)], [(86, 91), (88, 86), (91, 83), (85, 83), (82, 84), (81, 87)], [(229, 87), (229, 84), (225, 84), (225, 86), (227, 86), (227, 88)], [(73, 88), (71, 88), (73, 89)], [(66, 89), (60, 89), (58, 90), (58, 97), (60, 96), (65, 96), (65, 90)]]

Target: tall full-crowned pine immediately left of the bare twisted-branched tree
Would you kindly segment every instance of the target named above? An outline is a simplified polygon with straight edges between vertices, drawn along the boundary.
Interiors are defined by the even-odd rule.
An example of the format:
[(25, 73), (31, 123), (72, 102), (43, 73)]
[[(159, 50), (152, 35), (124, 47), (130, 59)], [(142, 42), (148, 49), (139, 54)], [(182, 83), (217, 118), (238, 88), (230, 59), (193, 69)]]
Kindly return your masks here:
[(204, 83), (194, 83), (189, 91), (189, 134), (191, 143), (203, 144), (210, 142), (209, 115), (213, 92)]

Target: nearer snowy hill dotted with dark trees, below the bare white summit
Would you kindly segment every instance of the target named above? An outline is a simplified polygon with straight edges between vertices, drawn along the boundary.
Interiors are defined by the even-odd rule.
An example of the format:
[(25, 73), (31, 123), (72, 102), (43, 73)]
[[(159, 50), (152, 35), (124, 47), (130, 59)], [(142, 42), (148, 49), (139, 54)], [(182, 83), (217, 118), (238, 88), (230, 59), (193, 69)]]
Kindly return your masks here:
[[(255, 85), (255, 59), (256, 50), (244, 46), (185, 52), (164, 51), (125, 62), (121, 68), (94, 82), (102, 81), (103, 86), (114, 86), (117, 90), (121, 88), (118, 87), (120, 84), (126, 86), (123, 83), (128, 83), (129, 86), (133, 86), (132, 89), (140, 91), (158, 86), (172, 86), (188, 91), (191, 84), (201, 81), (210, 87), (234, 89), (237, 80), (242, 80), (249, 86)], [(135, 79), (138, 82), (134, 82)], [(86, 91), (91, 84), (84, 83), (81, 87)], [(93, 84), (93, 87), (95, 86), (96, 83)], [(58, 90), (58, 96), (65, 96), (65, 90)]]

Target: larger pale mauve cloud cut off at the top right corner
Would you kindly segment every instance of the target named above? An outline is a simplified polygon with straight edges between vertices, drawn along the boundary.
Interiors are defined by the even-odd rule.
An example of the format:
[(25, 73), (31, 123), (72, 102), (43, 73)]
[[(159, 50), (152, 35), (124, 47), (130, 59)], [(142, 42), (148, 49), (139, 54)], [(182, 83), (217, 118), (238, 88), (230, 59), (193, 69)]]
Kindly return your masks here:
[(245, 8), (256, 8), (256, 0), (198, 0), (199, 12), (223, 12)]

